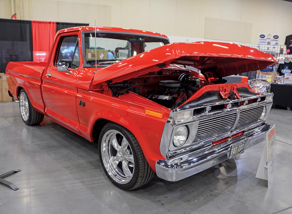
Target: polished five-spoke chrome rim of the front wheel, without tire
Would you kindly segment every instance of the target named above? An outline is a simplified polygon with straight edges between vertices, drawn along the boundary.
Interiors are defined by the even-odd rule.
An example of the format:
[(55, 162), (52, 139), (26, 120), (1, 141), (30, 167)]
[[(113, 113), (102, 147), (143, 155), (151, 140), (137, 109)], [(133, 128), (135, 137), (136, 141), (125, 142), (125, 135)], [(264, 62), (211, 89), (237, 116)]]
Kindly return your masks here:
[(128, 140), (119, 131), (110, 129), (102, 136), (102, 161), (109, 176), (126, 184), (133, 177), (134, 157)]

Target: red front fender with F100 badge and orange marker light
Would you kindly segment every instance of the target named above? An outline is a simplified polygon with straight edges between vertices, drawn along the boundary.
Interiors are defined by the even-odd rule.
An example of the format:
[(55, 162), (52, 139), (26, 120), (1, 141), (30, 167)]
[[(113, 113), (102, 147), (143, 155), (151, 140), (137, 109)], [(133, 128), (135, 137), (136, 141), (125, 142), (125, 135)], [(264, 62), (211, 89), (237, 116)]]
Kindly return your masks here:
[[(110, 93), (110, 91), (109, 91)], [(164, 124), (170, 110), (144, 97), (129, 92), (119, 97), (110, 94), (78, 90), (76, 101), (82, 100), (85, 106), (77, 106), (81, 135), (90, 140), (95, 121), (107, 119), (126, 127), (137, 138), (143, 153), (153, 170), (155, 162), (163, 156), (159, 150)], [(163, 114), (162, 118), (145, 114), (145, 109)]]

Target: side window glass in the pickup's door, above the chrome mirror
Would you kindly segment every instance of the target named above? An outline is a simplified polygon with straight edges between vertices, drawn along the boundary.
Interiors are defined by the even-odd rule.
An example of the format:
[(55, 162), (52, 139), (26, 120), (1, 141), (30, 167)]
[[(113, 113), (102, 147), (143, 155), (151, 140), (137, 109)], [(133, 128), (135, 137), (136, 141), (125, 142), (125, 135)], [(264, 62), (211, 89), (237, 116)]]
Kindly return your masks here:
[[(76, 45), (78, 45), (77, 41), (78, 41), (77, 35), (76, 36), (67, 36), (67, 37), (64, 37), (62, 39), (60, 46), (59, 46), (60, 47), (59, 52), (57, 55), (57, 62), (68, 63), (69, 67), (76, 68), (75, 66), (72, 66), (72, 64), (74, 64), (74, 63), (72, 63), (72, 60), (77, 52), (77, 50), (75, 50)], [(79, 60), (79, 47), (78, 47), (77, 55), (78, 55), (78, 60)], [(77, 58), (74, 57), (74, 59), (75, 59), (75, 63), (76, 63)], [(77, 64), (79, 66), (79, 62)]]

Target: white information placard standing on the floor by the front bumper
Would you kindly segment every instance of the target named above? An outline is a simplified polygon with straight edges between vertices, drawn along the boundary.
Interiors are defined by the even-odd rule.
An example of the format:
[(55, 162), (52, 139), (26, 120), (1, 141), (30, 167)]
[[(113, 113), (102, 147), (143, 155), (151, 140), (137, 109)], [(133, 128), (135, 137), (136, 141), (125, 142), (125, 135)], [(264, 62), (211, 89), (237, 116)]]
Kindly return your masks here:
[(265, 140), (260, 164), (256, 172), (256, 178), (268, 181), (268, 188), (276, 175), (276, 126), (274, 125), (268, 132)]

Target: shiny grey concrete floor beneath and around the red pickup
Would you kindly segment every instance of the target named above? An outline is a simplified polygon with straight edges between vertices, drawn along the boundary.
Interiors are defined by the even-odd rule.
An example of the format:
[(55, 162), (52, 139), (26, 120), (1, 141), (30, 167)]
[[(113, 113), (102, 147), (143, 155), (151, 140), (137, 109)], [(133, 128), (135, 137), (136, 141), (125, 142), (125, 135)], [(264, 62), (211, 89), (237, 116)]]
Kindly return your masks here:
[(272, 186), (255, 178), (264, 143), (230, 161), (178, 182), (154, 176), (126, 192), (112, 185), (98, 146), (45, 117), (22, 122), (18, 103), (0, 103), (0, 213), (292, 213), (292, 111), (272, 109), (277, 175)]

